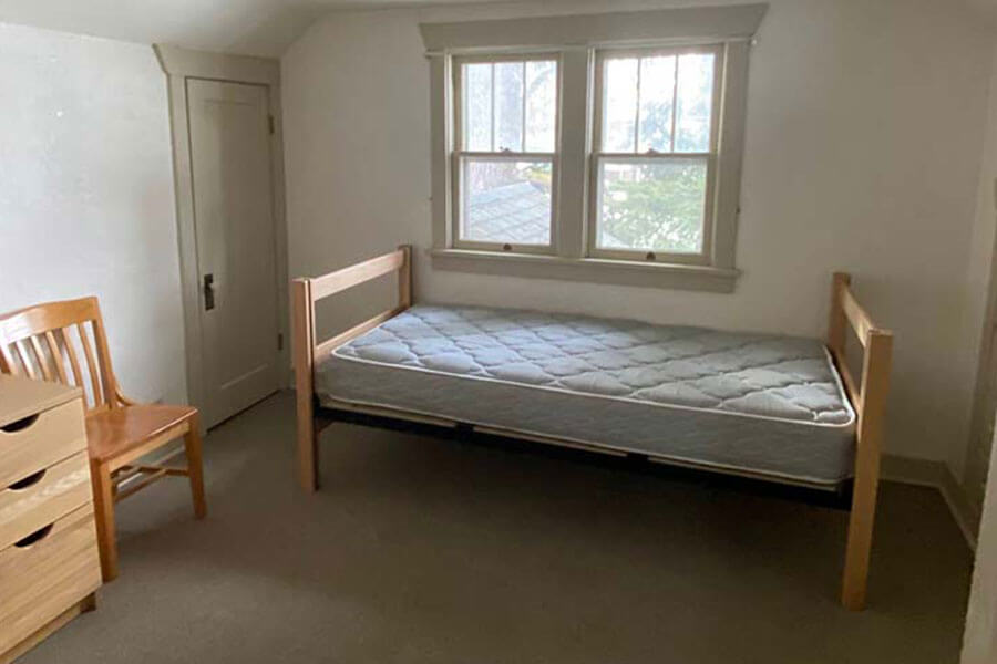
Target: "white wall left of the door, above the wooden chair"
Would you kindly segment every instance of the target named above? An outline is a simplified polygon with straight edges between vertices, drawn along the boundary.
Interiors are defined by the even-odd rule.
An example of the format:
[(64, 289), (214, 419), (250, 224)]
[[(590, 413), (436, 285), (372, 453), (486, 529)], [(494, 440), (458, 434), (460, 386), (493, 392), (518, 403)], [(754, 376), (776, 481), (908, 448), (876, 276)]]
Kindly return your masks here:
[(166, 80), (152, 49), (0, 24), (0, 311), (95, 294), (126, 394), (186, 401)]

